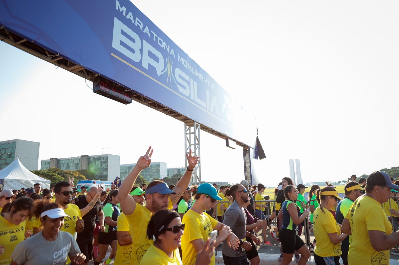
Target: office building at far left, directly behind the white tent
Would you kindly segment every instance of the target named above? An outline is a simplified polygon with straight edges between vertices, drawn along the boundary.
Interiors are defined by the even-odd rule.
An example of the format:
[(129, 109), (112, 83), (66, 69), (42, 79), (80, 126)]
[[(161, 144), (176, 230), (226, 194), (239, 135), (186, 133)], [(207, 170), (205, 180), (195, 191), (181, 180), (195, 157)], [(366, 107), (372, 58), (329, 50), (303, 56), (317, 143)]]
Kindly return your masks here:
[(8, 140), (0, 142), (0, 170), (11, 164), (17, 157), (28, 170), (38, 170), (39, 142)]

